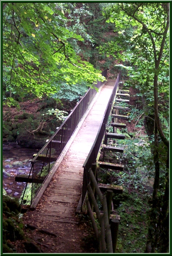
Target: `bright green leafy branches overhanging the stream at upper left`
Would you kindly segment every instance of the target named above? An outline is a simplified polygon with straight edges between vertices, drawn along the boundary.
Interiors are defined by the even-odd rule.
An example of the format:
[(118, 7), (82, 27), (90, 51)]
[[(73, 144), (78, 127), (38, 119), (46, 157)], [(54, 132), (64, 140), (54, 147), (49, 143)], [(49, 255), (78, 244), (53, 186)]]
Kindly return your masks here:
[(66, 24), (61, 3), (7, 4), (3, 12), (4, 94), (42, 97), (58, 90), (57, 81), (75, 84), (103, 79), (99, 70), (77, 55), (71, 42), (83, 39)]

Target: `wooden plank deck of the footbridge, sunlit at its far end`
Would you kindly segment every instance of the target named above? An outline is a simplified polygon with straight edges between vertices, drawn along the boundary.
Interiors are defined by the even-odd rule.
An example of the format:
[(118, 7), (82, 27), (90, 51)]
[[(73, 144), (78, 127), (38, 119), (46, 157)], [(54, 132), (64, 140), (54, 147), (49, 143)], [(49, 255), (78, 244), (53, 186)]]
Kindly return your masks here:
[[(97, 94), (90, 112), (75, 136), (63, 161), (47, 188), (44, 203), (33, 214), (42, 222), (74, 223), (75, 210), (82, 192), (83, 163), (87, 158), (99, 130), (114, 80), (108, 80)], [(39, 205), (41, 204), (41, 207)], [(56, 224), (55, 224), (56, 225)]]

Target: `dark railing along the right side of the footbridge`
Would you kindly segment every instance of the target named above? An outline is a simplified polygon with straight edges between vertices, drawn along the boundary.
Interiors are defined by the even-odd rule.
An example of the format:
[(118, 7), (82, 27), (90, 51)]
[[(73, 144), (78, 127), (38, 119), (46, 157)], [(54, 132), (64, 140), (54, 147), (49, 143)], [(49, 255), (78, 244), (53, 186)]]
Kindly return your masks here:
[(108, 121), (108, 117), (110, 115), (110, 111), (113, 105), (113, 101), (114, 101), (114, 97), (116, 95), (117, 92), (117, 88), (118, 88), (118, 84), (119, 84), (119, 80), (120, 80), (120, 72), (118, 74), (118, 77), (116, 79), (111, 97), (109, 99), (108, 105), (106, 107), (106, 111), (105, 114), (102, 118), (102, 123), (100, 125), (98, 134), (96, 136), (96, 139), (94, 141), (94, 144), (91, 148), (91, 151), (87, 157), (87, 159), (85, 160), (84, 164), (83, 164), (83, 185), (82, 185), (82, 201), (81, 201), (81, 206), (83, 205), (85, 196), (87, 194), (87, 188), (88, 188), (88, 184), (90, 183), (90, 175), (89, 175), (89, 169), (92, 168), (92, 164), (96, 164), (96, 159), (101, 147), (101, 143), (102, 143), (102, 139), (104, 137), (105, 134), (105, 130), (106, 130), (106, 123)]

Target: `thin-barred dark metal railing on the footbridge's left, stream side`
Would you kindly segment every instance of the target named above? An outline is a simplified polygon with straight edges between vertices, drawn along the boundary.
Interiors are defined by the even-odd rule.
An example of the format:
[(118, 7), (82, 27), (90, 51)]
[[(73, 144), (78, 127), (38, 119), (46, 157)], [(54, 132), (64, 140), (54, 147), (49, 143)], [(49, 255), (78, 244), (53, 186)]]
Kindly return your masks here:
[[(102, 72), (102, 76), (104, 76), (105, 78), (107, 78), (107, 70), (108, 69)], [(97, 84), (94, 84), (94, 86), (99, 89), (103, 83), (104, 82), (98, 81)], [(55, 134), (33, 158), (32, 166), (28, 176), (28, 179), (32, 179), (31, 204), (37, 193), (39, 192), (42, 184), (48, 177), (48, 174), (53, 168), (55, 162), (60, 157), (71, 135), (75, 131), (79, 121), (83, 117), (84, 113), (87, 111), (96, 93), (97, 90), (91, 88), (88, 90), (87, 93), (85, 93), (85, 95), (79, 100), (78, 104), (76, 104), (76, 106), (73, 108), (73, 111), (69, 114), (69, 116), (62, 123), (62, 125), (57, 129)], [(24, 198), (24, 193), (21, 204)]]

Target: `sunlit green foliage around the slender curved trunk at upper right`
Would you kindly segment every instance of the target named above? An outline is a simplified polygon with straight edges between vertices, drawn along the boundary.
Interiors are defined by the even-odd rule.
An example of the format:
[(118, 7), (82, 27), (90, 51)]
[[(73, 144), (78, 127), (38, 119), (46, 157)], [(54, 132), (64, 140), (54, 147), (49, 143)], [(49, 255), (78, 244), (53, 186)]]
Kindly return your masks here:
[[(154, 111), (154, 104), (160, 103), (158, 111), (163, 117), (166, 116), (165, 112), (169, 108), (168, 9), (167, 3), (104, 5), (104, 16), (108, 18), (109, 24), (115, 23), (118, 36), (115, 42), (102, 48), (103, 52), (107, 51), (111, 55), (114, 54), (115, 48), (117, 49), (117, 42), (121, 42), (118, 59), (123, 61), (120, 67), (127, 70), (127, 85), (140, 91), (145, 113)], [(156, 76), (158, 76), (157, 85)], [(161, 107), (162, 104), (165, 111)], [(163, 133), (166, 133), (165, 129)]]

